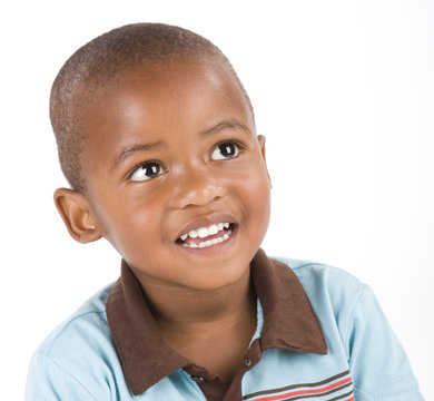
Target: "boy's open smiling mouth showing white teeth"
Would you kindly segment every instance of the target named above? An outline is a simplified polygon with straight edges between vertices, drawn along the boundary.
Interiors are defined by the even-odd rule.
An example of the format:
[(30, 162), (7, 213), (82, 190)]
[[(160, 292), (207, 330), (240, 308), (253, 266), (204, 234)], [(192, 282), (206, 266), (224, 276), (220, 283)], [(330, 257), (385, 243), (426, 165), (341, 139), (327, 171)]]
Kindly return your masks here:
[(217, 245), (230, 238), (234, 226), (233, 223), (217, 223), (191, 229), (183, 234), (176, 243), (189, 248), (205, 248)]

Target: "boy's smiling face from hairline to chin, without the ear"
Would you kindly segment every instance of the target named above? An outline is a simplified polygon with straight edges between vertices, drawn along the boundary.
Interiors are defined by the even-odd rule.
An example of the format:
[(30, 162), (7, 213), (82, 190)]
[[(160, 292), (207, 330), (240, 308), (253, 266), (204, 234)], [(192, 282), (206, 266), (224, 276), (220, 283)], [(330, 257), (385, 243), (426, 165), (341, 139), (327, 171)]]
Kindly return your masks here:
[(191, 61), (120, 74), (85, 127), (97, 229), (142, 283), (215, 290), (246, 274), (268, 225), (269, 178), (231, 74)]

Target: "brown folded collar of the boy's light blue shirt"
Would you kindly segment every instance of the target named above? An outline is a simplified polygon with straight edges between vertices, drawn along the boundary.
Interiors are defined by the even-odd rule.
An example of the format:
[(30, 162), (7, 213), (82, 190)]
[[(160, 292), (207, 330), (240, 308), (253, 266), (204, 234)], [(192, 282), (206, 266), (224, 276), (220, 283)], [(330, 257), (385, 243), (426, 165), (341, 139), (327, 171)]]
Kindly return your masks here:
[[(326, 354), (327, 345), (318, 320), (293, 271), (268, 258), (262, 250), (251, 261), (250, 268), (264, 310), (262, 349)], [(135, 395), (177, 369), (193, 365), (165, 341), (139, 282), (124, 261), (106, 310), (124, 374)]]

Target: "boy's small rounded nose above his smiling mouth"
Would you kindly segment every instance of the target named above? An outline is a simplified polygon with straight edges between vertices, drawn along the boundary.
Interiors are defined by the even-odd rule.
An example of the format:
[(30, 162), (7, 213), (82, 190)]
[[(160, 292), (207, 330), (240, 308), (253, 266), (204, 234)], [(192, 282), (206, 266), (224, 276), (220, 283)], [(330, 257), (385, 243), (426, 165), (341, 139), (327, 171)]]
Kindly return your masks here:
[(224, 183), (207, 168), (186, 168), (175, 184), (172, 204), (179, 208), (207, 206), (225, 194)]

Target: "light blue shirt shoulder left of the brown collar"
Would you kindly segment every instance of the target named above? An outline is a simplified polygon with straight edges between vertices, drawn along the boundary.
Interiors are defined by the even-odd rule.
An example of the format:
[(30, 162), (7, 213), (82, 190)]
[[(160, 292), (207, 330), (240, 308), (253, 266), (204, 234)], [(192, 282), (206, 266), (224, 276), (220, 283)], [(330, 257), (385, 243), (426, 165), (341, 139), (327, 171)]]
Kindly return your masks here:
[(47, 400), (102, 400), (110, 398), (112, 389), (129, 399), (106, 314), (114, 285), (91, 296), (37, 349), (26, 400), (39, 400), (42, 393)]

